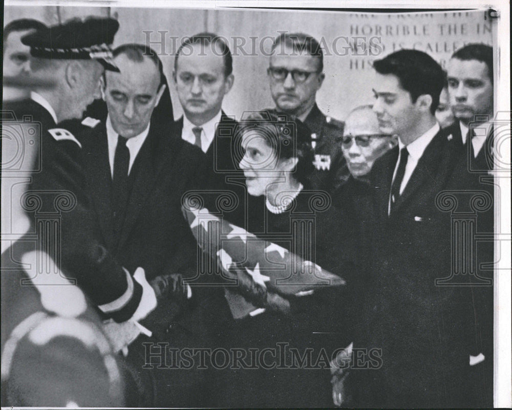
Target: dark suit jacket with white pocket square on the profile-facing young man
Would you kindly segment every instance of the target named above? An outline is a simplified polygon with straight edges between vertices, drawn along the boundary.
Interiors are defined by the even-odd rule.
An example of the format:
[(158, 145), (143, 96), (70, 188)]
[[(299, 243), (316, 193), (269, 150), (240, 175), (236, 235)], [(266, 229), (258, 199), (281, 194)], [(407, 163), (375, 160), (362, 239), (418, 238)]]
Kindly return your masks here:
[(464, 181), (453, 180), (457, 156), (446, 135), (438, 133), (389, 217), (398, 147), (373, 166), (372, 268), (360, 335), (365, 348), (379, 349), (381, 366), (364, 372), (361, 385), (372, 393), (363, 393), (361, 404), (453, 407), (483, 402), (482, 385), (471, 379), (469, 366), (478, 337), (474, 289), (435, 282), (453, 270), (451, 202), (437, 196), (464, 188)]

